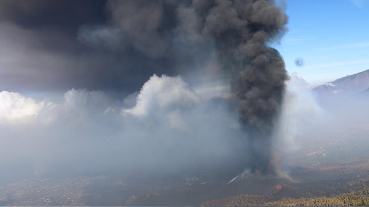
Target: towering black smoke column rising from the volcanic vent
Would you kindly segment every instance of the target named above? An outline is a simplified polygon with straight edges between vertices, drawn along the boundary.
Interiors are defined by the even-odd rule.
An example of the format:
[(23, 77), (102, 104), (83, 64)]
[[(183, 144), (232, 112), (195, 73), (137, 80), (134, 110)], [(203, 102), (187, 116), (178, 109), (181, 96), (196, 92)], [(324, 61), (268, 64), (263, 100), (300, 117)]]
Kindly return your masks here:
[(287, 15), (271, 1), (215, 1), (204, 34), (215, 38), (219, 60), (232, 80), (239, 120), (248, 132), (251, 171), (274, 174), (273, 121), (289, 78), (279, 52), (268, 46), (287, 30)]

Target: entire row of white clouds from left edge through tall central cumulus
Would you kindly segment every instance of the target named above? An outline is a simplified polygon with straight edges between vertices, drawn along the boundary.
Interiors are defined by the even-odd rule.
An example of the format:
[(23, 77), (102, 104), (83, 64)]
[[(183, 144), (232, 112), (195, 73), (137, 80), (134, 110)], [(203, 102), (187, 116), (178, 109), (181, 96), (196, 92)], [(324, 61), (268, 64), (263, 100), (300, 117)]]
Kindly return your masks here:
[[(48, 100), (37, 103), (19, 93), (3, 91), (0, 93), (0, 123), (32, 121), (51, 124), (62, 120), (84, 123), (92, 117), (96, 119), (117, 115), (121, 111), (123, 114), (145, 117), (147, 122), (166, 117), (165, 123), (170, 128), (186, 130), (181, 113), (199, 102), (199, 95), (180, 77), (154, 75), (144, 84), (139, 94), (131, 94), (123, 102), (108, 98), (102, 91), (86, 89), (67, 91), (64, 100), (59, 103)], [(121, 110), (123, 105), (120, 104), (132, 108)]]

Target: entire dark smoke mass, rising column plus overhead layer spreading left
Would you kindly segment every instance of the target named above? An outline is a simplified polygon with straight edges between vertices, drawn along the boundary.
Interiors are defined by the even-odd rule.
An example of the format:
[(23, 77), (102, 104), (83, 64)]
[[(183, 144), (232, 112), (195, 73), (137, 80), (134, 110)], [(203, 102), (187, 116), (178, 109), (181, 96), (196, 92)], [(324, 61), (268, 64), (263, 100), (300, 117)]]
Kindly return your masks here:
[(288, 75), (268, 43), (287, 20), (268, 0), (4, 0), (0, 81), (17, 92), (127, 95), (154, 73), (182, 75), (190, 86), (221, 77), (248, 133), (252, 172), (273, 173), (273, 122)]

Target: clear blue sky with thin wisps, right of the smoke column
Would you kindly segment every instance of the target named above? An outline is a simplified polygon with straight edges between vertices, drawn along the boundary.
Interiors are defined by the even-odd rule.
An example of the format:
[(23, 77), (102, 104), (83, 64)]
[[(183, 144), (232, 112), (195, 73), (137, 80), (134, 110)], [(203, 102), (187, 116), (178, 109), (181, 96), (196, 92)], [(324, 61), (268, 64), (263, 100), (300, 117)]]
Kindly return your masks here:
[[(287, 71), (311, 84), (369, 69), (369, 0), (287, 0), (289, 32), (278, 49)], [(304, 60), (296, 66), (295, 60)]]

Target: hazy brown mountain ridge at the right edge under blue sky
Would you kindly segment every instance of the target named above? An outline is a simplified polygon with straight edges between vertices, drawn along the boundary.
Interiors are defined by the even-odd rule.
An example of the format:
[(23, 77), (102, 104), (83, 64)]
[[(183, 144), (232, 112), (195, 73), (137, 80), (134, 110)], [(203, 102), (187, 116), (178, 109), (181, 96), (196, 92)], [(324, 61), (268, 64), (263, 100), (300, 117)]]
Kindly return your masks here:
[(319, 97), (348, 97), (358, 94), (369, 88), (369, 70), (356, 73), (351, 76), (345, 76), (335, 81), (319, 85), (313, 90)]

